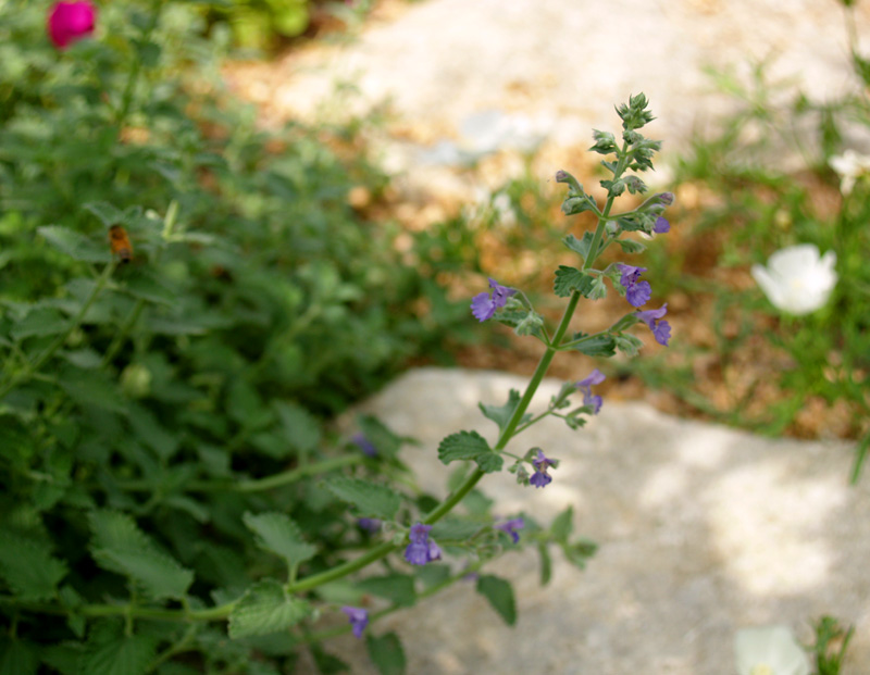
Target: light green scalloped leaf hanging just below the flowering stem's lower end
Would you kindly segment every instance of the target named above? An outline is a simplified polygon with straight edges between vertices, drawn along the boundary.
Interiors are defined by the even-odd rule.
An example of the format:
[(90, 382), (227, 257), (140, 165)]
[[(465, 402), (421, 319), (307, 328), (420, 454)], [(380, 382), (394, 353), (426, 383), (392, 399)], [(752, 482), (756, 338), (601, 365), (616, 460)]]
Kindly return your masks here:
[(286, 630), (310, 613), (311, 605), (289, 595), (278, 582), (259, 582), (233, 608), (229, 614), (229, 637), (236, 640)]

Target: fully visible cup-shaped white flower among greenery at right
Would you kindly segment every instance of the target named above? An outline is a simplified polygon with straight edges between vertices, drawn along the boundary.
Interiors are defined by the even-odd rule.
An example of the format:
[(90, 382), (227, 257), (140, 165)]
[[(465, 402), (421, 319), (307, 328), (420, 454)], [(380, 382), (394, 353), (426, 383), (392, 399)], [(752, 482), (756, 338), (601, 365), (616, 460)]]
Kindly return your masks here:
[(834, 251), (819, 258), (815, 245), (799, 243), (773, 253), (767, 267), (753, 265), (753, 276), (776, 309), (799, 316), (828, 302), (836, 285), (835, 263)]

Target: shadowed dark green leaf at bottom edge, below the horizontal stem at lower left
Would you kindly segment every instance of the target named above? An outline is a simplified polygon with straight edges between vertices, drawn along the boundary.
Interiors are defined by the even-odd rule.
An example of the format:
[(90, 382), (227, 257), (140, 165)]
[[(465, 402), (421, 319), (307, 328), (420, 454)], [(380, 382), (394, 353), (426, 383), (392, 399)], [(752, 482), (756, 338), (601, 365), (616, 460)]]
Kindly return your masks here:
[(142, 675), (154, 658), (158, 638), (124, 635), (121, 622), (99, 622), (91, 628), (79, 672), (87, 675)]

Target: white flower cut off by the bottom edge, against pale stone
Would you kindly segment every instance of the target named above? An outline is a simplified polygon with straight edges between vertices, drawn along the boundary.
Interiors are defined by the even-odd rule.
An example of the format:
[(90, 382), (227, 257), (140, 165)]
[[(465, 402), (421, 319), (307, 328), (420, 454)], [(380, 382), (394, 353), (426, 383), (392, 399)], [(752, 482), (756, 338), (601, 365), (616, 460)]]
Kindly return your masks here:
[(739, 675), (809, 675), (807, 654), (785, 626), (743, 628), (734, 637)]

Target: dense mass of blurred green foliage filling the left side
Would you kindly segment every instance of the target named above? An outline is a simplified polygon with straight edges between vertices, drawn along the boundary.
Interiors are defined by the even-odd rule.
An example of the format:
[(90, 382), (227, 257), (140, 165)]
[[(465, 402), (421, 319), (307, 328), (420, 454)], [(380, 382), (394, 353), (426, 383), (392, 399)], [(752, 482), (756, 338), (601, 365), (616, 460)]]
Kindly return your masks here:
[[(403, 476), (402, 440), (362, 421), (369, 459), (326, 421), (445, 354), (467, 302), (421, 276), (415, 235), (400, 252), (351, 207), (387, 182), (365, 120), (260, 129), (200, 3), (101, 4), (64, 51), (49, 4), (0, 1), (0, 673), (287, 672), (286, 629), (228, 641), (120, 608), (228, 607), (286, 578), (282, 551), (316, 574), (368, 546), (323, 477)], [(402, 517), (433, 501), (402, 490)], [(246, 597), (271, 602), (263, 584)], [(244, 607), (236, 636), (275, 629)]]

